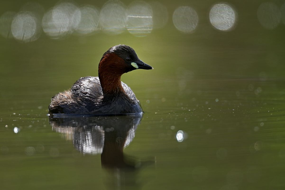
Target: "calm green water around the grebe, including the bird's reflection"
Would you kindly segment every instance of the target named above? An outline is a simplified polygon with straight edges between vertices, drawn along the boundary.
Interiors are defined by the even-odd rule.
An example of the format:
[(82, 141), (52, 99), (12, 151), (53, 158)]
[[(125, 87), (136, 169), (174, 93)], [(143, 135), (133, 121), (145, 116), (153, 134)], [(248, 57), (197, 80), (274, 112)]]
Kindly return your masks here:
[[(217, 31), (212, 3), (194, 3), (205, 15), (192, 34), (168, 2), (166, 27), (142, 38), (1, 37), (0, 189), (284, 189), (285, 26), (266, 30), (258, 2), (237, 3), (235, 29)], [(97, 76), (117, 44), (154, 67), (121, 78), (143, 116), (49, 119), (50, 98)]]

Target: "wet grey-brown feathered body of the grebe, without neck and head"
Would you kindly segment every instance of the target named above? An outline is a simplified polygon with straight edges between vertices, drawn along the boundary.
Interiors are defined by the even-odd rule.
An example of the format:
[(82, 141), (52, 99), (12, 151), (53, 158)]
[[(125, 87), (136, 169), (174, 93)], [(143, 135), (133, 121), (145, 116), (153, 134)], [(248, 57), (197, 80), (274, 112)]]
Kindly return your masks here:
[[(49, 105), (51, 114), (121, 114), (141, 112), (139, 101), (127, 84), (121, 82), (129, 100), (105, 101), (98, 77), (86, 76), (77, 80), (70, 90), (60, 92), (52, 98)], [(115, 102), (116, 101), (116, 102)], [(118, 102), (119, 101), (119, 102)], [(127, 101), (127, 102), (126, 102)], [(128, 102), (129, 101), (129, 102)], [(121, 106), (127, 104), (127, 109)]]

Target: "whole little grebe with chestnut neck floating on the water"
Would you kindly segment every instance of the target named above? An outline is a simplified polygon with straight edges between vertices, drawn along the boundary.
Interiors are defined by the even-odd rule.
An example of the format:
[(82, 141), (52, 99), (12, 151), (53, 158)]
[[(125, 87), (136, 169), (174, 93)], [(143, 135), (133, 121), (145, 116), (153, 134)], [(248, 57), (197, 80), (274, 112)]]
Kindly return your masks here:
[(121, 75), (135, 69), (153, 69), (140, 60), (133, 48), (117, 45), (106, 51), (98, 68), (99, 77), (86, 76), (70, 90), (52, 97), (50, 114), (129, 114), (142, 112), (139, 100)]

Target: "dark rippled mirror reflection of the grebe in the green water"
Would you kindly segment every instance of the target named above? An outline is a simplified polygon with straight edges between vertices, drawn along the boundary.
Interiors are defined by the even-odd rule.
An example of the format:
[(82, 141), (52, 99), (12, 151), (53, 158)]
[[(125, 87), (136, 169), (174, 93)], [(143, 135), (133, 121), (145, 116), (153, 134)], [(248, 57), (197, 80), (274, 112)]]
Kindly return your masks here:
[[(154, 158), (139, 159), (126, 155), (123, 149), (133, 138), (142, 114), (127, 116), (88, 116), (49, 118), (52, 130), (72, 140), (74, 147), (83, 154), (101, 154), (101, 165), (106, 169), (106, 185), (110, 189), (141, 188), (137, 180), (139, 171), (155, 163)], [(128, 188), (127, 188), (128, 189)]]

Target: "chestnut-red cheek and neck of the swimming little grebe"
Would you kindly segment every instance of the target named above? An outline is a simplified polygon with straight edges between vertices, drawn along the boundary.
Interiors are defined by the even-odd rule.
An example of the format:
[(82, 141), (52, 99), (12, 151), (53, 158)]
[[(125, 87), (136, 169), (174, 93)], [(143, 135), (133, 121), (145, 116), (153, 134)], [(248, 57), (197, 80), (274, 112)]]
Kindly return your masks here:
[(125, 91), (121, 84), (125, 61), (116, 54), (104, 56), (98, 68), (99, 80), (104, 96), (114, 96)]

